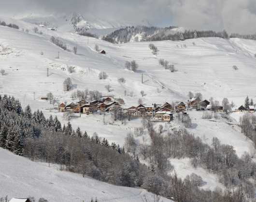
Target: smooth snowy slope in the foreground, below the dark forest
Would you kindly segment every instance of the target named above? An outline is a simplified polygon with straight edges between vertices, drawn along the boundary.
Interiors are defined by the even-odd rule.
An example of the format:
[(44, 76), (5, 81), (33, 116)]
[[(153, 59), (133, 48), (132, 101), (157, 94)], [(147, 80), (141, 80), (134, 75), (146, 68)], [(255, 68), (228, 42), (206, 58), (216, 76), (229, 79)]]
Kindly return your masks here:
[[(144, 195), (152, 200), (153, 194), (144, 189), (119, 187), (90, 177), (59, 171), (57, 165), (31, 162), (0, 149), (0, 197), (34, 196), (49, 202), (142, 202)], [(163, 202), (171, 202), (162, 198)]]

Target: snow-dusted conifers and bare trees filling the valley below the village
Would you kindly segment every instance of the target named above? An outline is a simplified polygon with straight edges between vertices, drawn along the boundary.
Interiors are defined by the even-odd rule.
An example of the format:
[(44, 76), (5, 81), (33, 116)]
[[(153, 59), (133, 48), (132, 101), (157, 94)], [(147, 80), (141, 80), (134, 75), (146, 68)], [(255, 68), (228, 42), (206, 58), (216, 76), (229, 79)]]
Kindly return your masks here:
[[(232, 146), (221, 145), (218, 139), (210, 147), (185, 130), (164, 137), (149, 121), (145, 127), (152, 143), (140, 145), (139, 150), (150, 166), (140, 163), (139, 153), (130, 155), (97, 134), (89, 137), (70, 123), (62, 127), (57, 117), (46, 119), (42, 112), (32, 113), (29, 106), (23, 110), (14, 97), (0, 96), (0, 147), (32, 161), (59, 164), (61, 169), (115, 185), (141, 187), (177, 202), (254, 200), (255, 188), (248, 179), (256, 177), (256, 164), (249, 154), (239, 159)], [(170, 157), (190, 157), (194, 166), (218, 174), (228, 189), (200, 189), (201, 178), (195, 174), (184, 180), (168, 175)]]

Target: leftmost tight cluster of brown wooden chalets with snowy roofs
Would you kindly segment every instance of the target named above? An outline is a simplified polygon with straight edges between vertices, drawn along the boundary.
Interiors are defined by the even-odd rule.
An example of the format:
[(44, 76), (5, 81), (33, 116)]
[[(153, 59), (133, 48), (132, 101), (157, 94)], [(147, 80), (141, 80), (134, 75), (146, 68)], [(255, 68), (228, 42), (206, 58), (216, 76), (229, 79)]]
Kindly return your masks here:
[(111, 112), (114, 108), (121, 107), (124, 104), (123, 99), (114, 99), (114, 97), (101, 97), (100, 100), (86, 101), (81, 100), (77, 103), (71, 102), (66, 105), (61, 103), (59, 105), (59, 112), (73, 112), (82, 114), (92, 114), (97, 111)]

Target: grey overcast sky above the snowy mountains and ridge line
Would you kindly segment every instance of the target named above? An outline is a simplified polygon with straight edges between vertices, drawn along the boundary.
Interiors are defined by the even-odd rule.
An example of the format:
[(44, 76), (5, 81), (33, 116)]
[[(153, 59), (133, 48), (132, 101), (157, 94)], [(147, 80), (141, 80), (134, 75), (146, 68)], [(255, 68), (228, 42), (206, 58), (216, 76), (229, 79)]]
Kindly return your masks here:
[(256, 33), (256, 0), (0, 0), (0, 15), (77, 12), (191, 29)]

